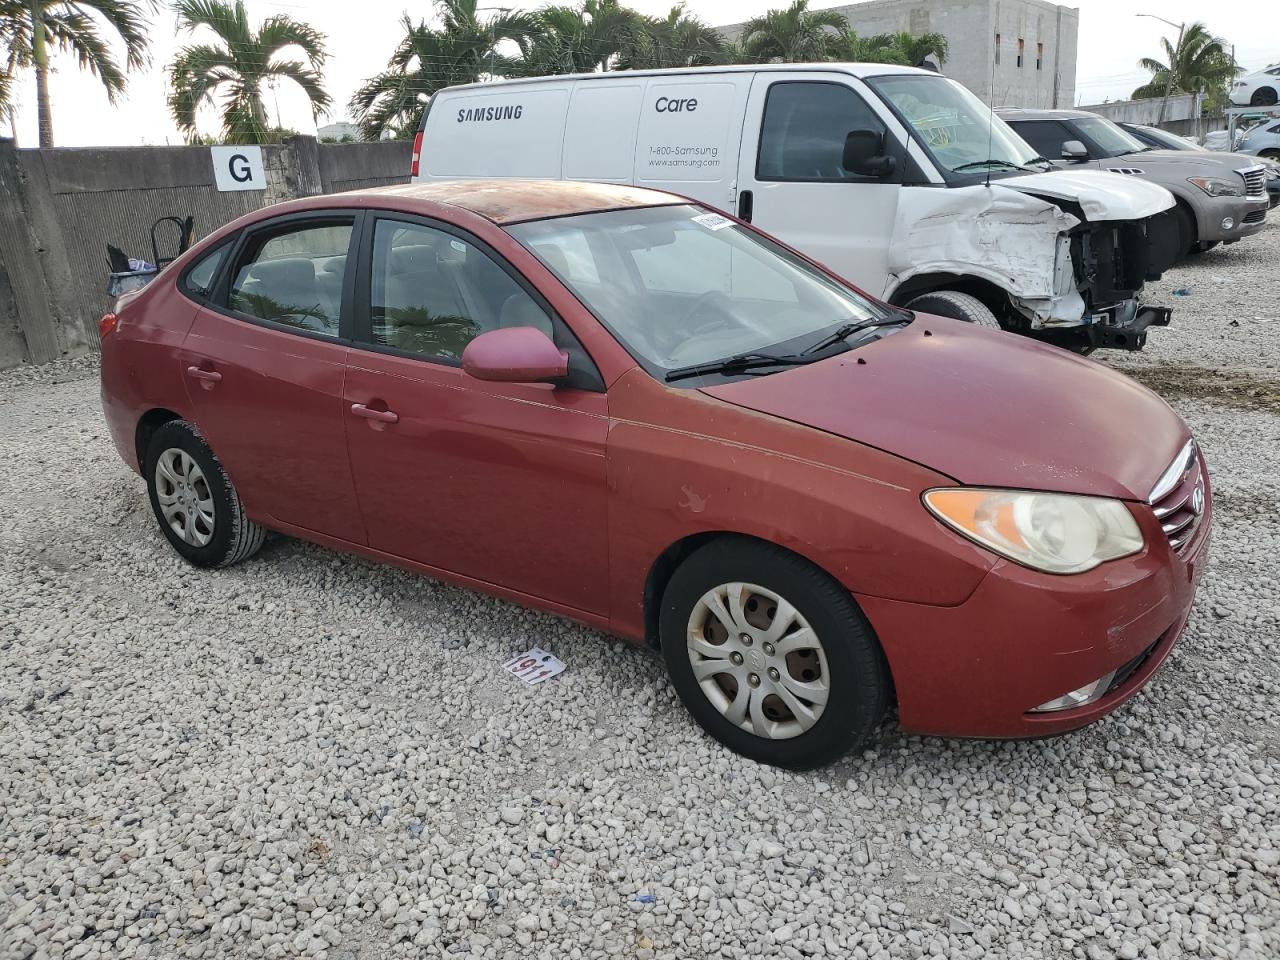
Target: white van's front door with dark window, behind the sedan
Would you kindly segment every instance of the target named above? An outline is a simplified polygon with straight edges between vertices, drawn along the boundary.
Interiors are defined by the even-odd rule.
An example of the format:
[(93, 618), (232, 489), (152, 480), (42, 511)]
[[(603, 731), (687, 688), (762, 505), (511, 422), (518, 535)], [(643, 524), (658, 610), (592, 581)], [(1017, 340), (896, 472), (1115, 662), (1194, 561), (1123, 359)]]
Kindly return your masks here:
[[(846, 170), (845, 138), (855, 129), (884, 137), (896, 172)], [(854, 77), (836, 72), (762, 72), (746, 109), (737, 212), (822, 261), (868, 293), (888, 280), (905, 132)]]

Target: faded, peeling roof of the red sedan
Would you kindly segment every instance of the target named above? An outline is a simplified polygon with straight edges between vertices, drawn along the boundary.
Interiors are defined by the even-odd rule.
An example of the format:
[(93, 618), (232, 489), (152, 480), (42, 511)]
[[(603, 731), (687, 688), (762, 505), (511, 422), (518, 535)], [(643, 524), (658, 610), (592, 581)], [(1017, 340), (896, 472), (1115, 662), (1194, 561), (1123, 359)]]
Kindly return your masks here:
[[(367, 200), (367, 206), (412, 207), (444, 204), (483, 216), (499, 225), (575, 214), (594, 214), (602, 210), (690, 202), (675, 193), (616, 183), (517, 179), (426, 180), (351, 191), (342, 196)], [(393, 202), (388, 204), (387, 201)], [(404, 204), (403, 201), (410, 202)]]

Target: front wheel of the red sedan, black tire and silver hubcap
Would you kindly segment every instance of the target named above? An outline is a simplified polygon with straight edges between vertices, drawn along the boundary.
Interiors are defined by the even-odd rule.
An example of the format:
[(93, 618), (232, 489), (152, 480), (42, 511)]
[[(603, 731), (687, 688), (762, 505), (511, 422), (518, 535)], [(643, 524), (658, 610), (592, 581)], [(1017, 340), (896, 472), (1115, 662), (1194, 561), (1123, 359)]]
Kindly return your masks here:
[[(741, 589), (737, 609), (754, 621), (740, 626), (737, 636), (730, 636), (707, 603), (714, 595), (722, 609), (732, 609), (733, 588)], [(778, 612), (786, 609), (783, 602), (796, 616), (787, 617), (794, 626), (773, 636), (773, 646), (767, 627), (780, 626), (773, 617), (785, 616)], [(726, 536), (690, 554), (663, 591), (659, 635), (672, 685), (694, 719), (735, 753), (774, 767), (812, 769), (865, 744), (891, 698), (884, 655), (849, 591), (806, 561), (758, 540)], [(744, 644), (748, 635), (751, 643)], [(786, 645), (795, 649), (785, 652)], [(704, 658), (699, 650), (713, 655)], [(731, 653), (722, 657), (726, 650)], [(714, 664), (700, 669), (701, 680), (695, 658)], [(799, 713), (776, 692), (783, 687), (791, 703), (800, 704)], [(740, 726), (726, 712), (739, 704), (744, 689)], [(824, 689), (823, 704), (796, 695), (817, 689)], [(745, 728), (756, 723), (763, 735)]]

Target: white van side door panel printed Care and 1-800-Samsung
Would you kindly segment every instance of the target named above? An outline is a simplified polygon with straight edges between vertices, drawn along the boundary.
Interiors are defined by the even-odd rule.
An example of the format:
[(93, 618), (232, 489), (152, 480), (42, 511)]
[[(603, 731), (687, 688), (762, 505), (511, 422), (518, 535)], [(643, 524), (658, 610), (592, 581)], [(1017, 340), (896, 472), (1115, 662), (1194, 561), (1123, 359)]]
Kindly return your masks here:
[(643, 78), (632, 182), (732, 210), (751, 77), (741, 72)]

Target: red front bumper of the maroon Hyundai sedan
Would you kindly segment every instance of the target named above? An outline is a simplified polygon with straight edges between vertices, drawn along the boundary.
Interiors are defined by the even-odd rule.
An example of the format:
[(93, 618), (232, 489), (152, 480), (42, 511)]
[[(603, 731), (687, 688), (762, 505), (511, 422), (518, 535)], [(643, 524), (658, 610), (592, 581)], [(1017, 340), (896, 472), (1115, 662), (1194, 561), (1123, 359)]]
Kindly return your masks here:
[[(1037, 737), (1083, 727), (1140, 690), (1178, 641), (1207, 559), (1212, 507), (1181, 552), (1149, 508), (1147, 547), (1074, 576), (1001, 561), (956, 607), (859, 596), (893, 675), (904, 731)], [(1037, 705), (1120, 671), (1085, 707)]]

